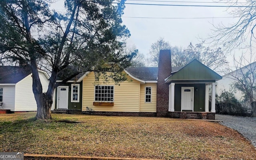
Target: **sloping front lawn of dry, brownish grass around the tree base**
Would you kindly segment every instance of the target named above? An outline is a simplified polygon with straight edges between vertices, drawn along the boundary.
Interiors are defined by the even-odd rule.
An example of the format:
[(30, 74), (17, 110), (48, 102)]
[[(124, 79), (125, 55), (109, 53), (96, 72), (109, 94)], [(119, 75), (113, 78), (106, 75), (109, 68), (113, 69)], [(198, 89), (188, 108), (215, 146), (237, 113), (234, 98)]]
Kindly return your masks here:
[(216, 122), (154, 117), (55, 115), (81, 123), (34, 121), (36, 113), (0, 115), (0, 151), (152, 159), (255, 160), (238, 132)]

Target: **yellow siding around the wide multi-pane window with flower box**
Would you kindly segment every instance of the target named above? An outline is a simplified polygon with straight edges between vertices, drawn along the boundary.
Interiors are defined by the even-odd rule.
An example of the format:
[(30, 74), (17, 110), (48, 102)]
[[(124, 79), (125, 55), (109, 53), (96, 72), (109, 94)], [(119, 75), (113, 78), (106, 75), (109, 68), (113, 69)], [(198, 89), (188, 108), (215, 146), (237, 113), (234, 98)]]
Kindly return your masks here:
[[(128, 79), (132, 79), (128, 77)], [(114, 106), (94, 106), (94, 73), (91, 72), (83, 79), (83, 100), (82, 111), (86, 111), (86, 107), (94, 111), (108, 112), (139, 112), (139, 95), (140, 82), (132, 79), (125, 81), (120, 85), (114, 85), (113, 82), (101, 85), (114, 85)]]

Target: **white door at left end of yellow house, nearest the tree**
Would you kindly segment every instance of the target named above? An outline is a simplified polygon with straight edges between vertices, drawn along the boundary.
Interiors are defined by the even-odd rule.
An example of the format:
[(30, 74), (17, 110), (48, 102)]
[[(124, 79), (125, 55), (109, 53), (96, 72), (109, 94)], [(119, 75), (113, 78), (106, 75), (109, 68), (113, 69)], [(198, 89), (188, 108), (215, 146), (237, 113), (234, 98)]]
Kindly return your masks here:
[(68, 86), (58, 87), (58, 109), (68, 109)]

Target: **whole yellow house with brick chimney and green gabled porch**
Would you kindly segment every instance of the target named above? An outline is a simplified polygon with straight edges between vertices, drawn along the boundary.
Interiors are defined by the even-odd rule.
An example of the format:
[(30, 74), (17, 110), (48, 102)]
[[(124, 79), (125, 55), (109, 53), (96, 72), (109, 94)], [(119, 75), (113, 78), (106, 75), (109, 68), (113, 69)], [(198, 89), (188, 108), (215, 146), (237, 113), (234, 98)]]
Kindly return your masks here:
[[(171, 66), (170, 50), (161, 50), (158, 67), (126, 68), (128, 80), (95, 84), (94, 72), (59, 86), (56, 109), (94, 115), (215, 119), (216, 81), (220, 75), (194, 59)], [(209, 105), (209, 103), (211, 105)], [(211, 106), (211, 107), (210, 107)]]

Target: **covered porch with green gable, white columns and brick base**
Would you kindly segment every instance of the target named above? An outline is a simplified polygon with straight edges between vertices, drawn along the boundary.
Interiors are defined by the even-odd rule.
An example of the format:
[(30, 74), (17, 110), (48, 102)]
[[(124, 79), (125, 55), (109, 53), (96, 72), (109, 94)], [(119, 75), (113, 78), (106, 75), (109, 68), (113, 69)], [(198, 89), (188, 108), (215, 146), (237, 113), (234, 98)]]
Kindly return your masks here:
[(214, 120), (216, 81), (219, 79), (222, 79), (220, 75), (196, 59), (172, 73), (165, 82), (169, 84), (168, 117)]

